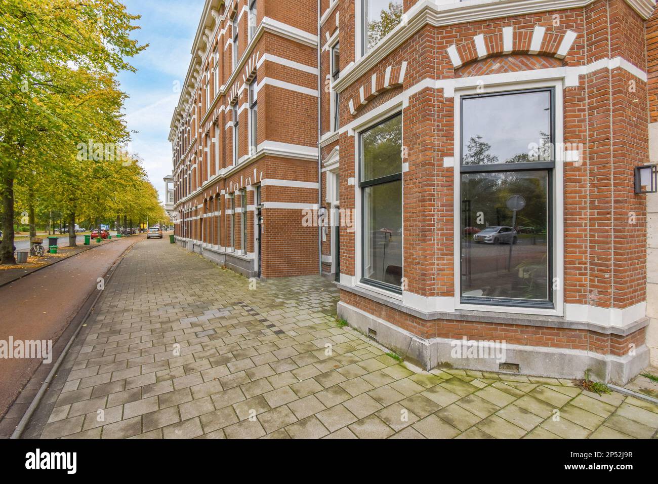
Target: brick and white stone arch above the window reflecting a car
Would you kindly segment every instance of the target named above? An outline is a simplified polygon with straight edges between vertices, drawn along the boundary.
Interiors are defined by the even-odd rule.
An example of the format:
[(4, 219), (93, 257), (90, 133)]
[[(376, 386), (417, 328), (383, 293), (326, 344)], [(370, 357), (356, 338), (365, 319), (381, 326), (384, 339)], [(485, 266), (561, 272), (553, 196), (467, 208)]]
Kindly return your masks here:
[(493, 34), (479, 34), (465, 42), (451, 45), (447, 48), (447, 54), (455, 69), (488, 57), (509, 54), (564, 59), (577, 35), (571, 30), (564, 33), (547, 32), (542, 26), (532, 29), (505, 27)]

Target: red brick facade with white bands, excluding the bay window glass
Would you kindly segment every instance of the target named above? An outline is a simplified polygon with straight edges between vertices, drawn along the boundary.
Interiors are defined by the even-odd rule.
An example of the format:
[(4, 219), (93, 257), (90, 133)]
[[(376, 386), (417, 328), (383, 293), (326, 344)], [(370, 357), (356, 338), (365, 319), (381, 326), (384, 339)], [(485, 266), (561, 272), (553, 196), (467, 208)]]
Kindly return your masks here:
[[(247, 247), (238, 242), (240, 221), (234, 226), (236, 242), (230, 244), (227, 228), (234, 216), (227, 196), (238, 200), (245, 190), (247, 206), (253, 207), (260, 184), (261, 275), (312, 274), (321, 267), (323, 275), (339, 281), (340, 317), (407, 360), (426, 368), (450, 363), (497, 370), (484, 360), (451, 360), (449, 343), (464, 337), (501, 340), (510, 348), (507, 363), (519, 365), (522, 373), (580, 377), (593, 368), (600, 379), (627, 381), (649, 361), (647, 197), (634, 193), (634, 167), (649, 159), (649, 117), (658, 121), (655, 59), (651, 53), (647, 57), (647, 45), (658, 45), (655, 15), (647, 22), (653, 1), (397, 0), (388, 7), (401, 6), (395, 12), (403, 15), (379, 41), (363, 32), (367, 3), (320, 0), (318, 11), (317, 1), (292, 7), (258, 0), (263, 33), (249, 41), (247, 28), (241, 28), (240, 49), (248, 45), (249, 52), (241, 57), (237, 76), (231, 69), (232, 12), (247, 13), (249, 5), (245, 0), (207, 3), (193, 49), (199, 47), (201, 57), (195, 55), (186, 84), (190, 101), (184, 90), (170, 138), (179, 240), (199, 252), (218, 249), (224, 257), (220, 263), (236, 268), (240, 264), (229, 261), (230, 254), (243, 251), (248, 258), (255, 250), (249, 233), (255, 212), (248, 209)], [(287, 34), (281, 23), (289, 26)], [(205, 26), (208, 39), (201, 40)], [(224, 49), (222, 87), (206, 109), (203, 73), (206, 57), (212, 57), (207, 45), (213, 42)], [(213, 72), (212, 63), (208, 71)], [(249, 154), (246, 131), (240, 130), (240, 163), (234, 167), (230, 107), (248, 105), (253, 75), (259, 84), (268, 80), (258, 91), (258, 151)], [(552, 93), (556, 144), (545, 202), (550, 296), (540, 305), (481, 298), (487, 304), (478, 306), (460, 289), (458, 197), (465, 172), (457, 110), (467, 95), (538, 89)], [(401, 262), (381, 268), (388, 282), (372, 284), (364, 277), (366, 202), (359, 140), (365, 130), (397, 115), (402, 217), (395, 233)], [(243, 109), (240, 126), (248, 124), (249, 109)], [(213, 137), (218, 158), (213, 149), (204, 151)], [(324, 220), (334, 222), (319, 231), (300, 222), (300, 209), (318, 202)], [(391, 229), (382, 228), (382, 240)], [(517, 235), (521, 229), (512, 227)], [(516, 277), (514, 271), (525, 280), (522, 265), (511, 271), (511, 255), (508, 264), (509, 280)], [(399, 286), (389, 283), (395, 277)]]

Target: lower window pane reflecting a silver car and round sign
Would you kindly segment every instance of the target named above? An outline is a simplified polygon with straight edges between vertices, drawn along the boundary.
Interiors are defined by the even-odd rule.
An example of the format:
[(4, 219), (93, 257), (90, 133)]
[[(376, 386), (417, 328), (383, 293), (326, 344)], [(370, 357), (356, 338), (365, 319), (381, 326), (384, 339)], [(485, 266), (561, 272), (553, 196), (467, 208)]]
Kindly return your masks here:
[(549, 171), (461, 175), (461, 296), (548, 301)]

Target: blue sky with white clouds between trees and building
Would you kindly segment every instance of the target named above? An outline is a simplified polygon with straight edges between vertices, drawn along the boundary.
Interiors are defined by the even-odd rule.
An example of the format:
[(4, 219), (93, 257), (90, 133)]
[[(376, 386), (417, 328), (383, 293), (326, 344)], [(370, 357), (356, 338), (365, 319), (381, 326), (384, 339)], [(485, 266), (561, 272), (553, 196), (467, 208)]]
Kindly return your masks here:
[(141, 45), (150, 44), (130, 59), (137, 72), (119, 75), (121, 90), (130, 96), (125, 109), (128, 128), (133, 131), (130, 151), (143, 159), (161, 201), (163, 177), (172, 171), (167, 138), (180, 95), (174, 91), (174, 83), (185, 81), (203, 4), (203, 0), (124, 0), (129, 13), (141, 15), (134, 22), (141, 29), (135, 30), (132, 38)]

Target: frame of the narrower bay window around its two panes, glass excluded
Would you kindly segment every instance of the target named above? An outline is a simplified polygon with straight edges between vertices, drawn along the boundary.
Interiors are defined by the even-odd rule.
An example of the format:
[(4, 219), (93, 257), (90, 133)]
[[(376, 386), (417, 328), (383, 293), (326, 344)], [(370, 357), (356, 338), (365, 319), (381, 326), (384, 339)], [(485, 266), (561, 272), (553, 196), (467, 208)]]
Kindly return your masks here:
[[(370, 178), (370, 180), (363, 181), (363, 155), (364, 155), (364, 149), (363, 149), (363, 134), (369, 130), (372, 130), (376, 128), (377, 126), (380, 126), (381, 124), (384, 124), (388, 121), (391, 121), (392, 119), (395, 119), (396, 117), (400, 117), (400, 129), (403, 131), (403, 113), (402, 111), (396, 111), (395, 113), (392, 113), (390, 115), (387, 115), (386, 117), (382, 119), (377, 119), (376, 121), (372, 122), (372, 124), (368, 124), (367, 126), (363, 126), (357, 133), (359, 136), (359, 141), (357, 143), (358, 146), (358, 151), (357, 151), (357, 163), (359, 166), (359, 180), (357, 183), (358, 189), (359, 189), (359, 200), (361, 202), (361, 213), (360, 217), (361, 220), (359, 221), (359, 227), (361, 229), (361, 250), (360, 250), (360, 255), (361, 255), (361, 263), (359, 264), (360, 266), (360, 277), (359, 277), (359, 283), (364, 284), (365, 286), (368, 286), (370, 288), (377, 288), (379, 290), (384, 290), (388, 293), (393, 293), (397, 295), (402, 294), (402, 287), (400, 286), (395, 286), (394, 284), (389, 284), (388, 282), (382, 282), (382, 281), (376, 281), (375, 279), (369, 279), (368, 277), (365, 277), (365, 263), (366, 263), (366, 257), (365, 257), (365, 248), (366, 248), (366, 230), (365, 230), (365, 211), (366, 211), (366, 203), (365, 203), (365, 188), (371, 187), (371, 186), (378, 186), (378, 185), (384, 185), (388, 184), (390, 182), (395, 182), (398, 181), (401, 182), (402, 184), (402, 196), (400, 200), (400, 211), (402, 215), (402, 272), (404, 274), (404, 182), (403, 182), (403, 163), (404, 161), (401, 161), (400, 164), (400, 171), (399, 173), (393, 173), (392, 175), (385, 175), (385, 176), (380, 176), (378, 178)], [(402, 146), (404, 146), (404, 140), (402, 139)], [(402, 146), (400, 149), (402, 149)]]

